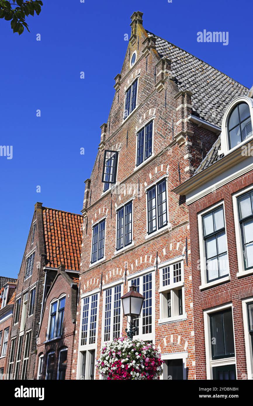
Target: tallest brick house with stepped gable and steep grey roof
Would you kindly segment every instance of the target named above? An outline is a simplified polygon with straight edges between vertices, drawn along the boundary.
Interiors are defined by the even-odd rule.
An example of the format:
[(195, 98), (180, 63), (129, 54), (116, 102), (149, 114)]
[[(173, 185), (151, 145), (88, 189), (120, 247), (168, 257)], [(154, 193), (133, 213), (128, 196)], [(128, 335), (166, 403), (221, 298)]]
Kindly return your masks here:
[(160, 348), (163, 379), (195, 378), (188, 206), (172, 190), (217, 140), (227, 103), (248, 89), (145, 30), (142, 15), (131, 16), (85, 181), (72, 379), (99, 379), (95, 358), (104, 342), (125, 334), (121, 296), (132, 283), (145, 296), (136, 336)]

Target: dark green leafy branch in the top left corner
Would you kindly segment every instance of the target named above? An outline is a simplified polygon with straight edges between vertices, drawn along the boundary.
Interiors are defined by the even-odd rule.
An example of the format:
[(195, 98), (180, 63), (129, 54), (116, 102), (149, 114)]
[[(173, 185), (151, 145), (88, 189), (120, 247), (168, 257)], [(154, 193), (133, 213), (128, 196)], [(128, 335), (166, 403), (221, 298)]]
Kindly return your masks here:
[(25, 18), (34, 13), (39, 15), (41, 6), (43, 6), (41, 0), (12, 0), (12, 2), (0, 0), (0, 18), (11, 21), (13, 32), (20, 35), (24, 32), (24, 27), (29, 31)]

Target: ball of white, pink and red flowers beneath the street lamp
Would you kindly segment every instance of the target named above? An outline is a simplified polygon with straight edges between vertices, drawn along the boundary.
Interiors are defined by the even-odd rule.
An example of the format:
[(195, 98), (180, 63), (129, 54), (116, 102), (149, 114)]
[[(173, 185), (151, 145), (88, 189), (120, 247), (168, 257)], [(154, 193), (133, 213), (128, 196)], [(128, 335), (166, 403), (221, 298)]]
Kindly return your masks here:
[(162, 362), (153, 344), (121, 337), (102, 347), (96, 367), (107, 380), (153, 380), (160, 379)]

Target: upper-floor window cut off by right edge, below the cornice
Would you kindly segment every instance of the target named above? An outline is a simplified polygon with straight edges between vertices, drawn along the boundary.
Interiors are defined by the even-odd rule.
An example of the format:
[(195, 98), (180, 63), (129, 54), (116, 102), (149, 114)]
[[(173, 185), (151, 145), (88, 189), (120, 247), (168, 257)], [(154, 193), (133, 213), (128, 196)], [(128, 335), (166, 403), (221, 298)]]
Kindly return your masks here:
[(248, 270), (253, 267), (253, 192), (240, 196), (238, 207), (244, 268)]

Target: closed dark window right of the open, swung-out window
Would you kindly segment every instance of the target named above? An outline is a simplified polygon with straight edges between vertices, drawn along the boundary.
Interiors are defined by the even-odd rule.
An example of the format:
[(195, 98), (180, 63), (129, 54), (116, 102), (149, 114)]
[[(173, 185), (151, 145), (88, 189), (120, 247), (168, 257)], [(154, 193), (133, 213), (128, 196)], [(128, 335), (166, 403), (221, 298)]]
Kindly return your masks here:
[(152, 155), (153, 121), (137, 133), (136, 166)]

